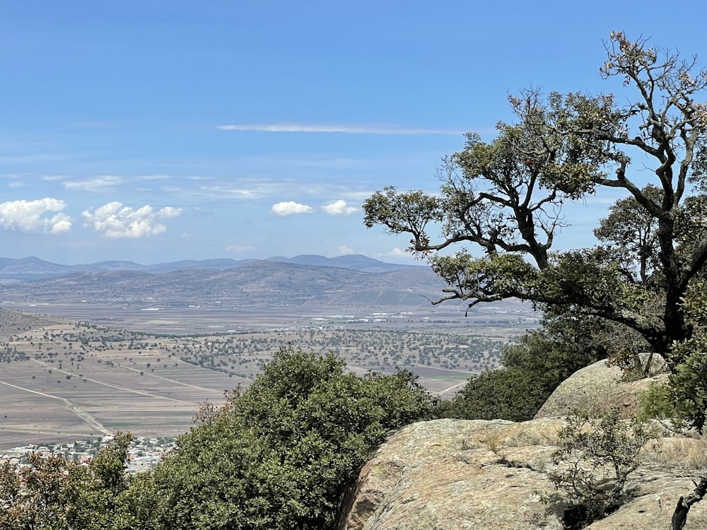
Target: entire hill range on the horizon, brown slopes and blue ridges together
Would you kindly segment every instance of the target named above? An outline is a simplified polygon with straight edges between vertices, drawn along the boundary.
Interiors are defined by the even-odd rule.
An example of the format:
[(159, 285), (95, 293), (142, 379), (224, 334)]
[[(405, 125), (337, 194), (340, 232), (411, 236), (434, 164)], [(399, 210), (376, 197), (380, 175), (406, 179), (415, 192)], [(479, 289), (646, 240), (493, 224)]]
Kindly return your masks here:
[(130, 307), (430, 307), (443, 283), (426, 266), (387, 264), (361, 255), (267, 260), (213, 259), (139, 265), (103, 261), (57, 265), (0, 259), (0, 300), (94, 302)]

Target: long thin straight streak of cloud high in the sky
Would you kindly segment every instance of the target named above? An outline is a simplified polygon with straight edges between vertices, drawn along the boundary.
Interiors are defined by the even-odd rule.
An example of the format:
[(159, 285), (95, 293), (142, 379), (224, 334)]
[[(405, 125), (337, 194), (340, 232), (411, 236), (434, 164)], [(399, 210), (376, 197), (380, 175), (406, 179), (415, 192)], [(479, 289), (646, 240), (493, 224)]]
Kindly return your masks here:
[(222, 131), (305, 132), (344, 134), (462, 134), (456, 129), (431, 129), (395, 124), (235, 124), (218, 125)]

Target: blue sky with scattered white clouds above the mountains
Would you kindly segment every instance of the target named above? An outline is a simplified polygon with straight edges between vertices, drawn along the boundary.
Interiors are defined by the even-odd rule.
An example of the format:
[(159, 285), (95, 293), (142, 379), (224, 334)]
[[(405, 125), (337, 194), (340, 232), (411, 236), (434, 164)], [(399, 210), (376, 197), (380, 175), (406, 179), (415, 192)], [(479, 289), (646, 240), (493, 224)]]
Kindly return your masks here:
[[(688, 5), (691, 4), (691, 5)], [(401, 255), (363, 227), (392, 184), (438, 189), (508, 93), (590, 93), (612, 30), (701, 54), (701, 2), (0, 4), (0, 256), (65, 264)], [(677, 8), (676, 8), (677, 11)], [(621, 97), (619, 97), (619, 101)], [(619, 195), (566, 210), (592, 245)]]

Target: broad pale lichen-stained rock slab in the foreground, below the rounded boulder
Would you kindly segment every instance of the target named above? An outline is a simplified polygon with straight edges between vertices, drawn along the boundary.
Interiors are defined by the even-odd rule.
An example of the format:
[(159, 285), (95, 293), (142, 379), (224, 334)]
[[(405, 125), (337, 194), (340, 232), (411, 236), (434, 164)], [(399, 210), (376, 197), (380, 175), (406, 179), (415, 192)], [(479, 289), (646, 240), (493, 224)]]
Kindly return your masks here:
[[(363, 468), (338, 529), (560, 530), (563, 507), (544, 504), (540, 495), (552, 491), (547, 472), (561, 425), (562, 418), (409, 425), (392, 435)], [(695, 449), (699, 447), (690, 450)], [(670, 528), (677, 500), (691, 493), (691, 478), (699, 473), (684, 469), (677, 474), (670, 471), (672, 466), (667, 470), (660, 464), (647, 461), (635, 473), (636, 497), (588, 528)], [(707, 501), (692, 507), (685, 528), (703, 528), (706, 523)]]

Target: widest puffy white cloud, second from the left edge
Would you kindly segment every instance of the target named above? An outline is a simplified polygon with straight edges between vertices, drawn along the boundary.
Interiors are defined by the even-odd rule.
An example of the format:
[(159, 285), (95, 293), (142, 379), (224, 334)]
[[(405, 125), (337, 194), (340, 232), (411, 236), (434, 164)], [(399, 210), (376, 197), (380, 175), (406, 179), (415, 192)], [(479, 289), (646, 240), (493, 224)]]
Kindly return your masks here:
[(86, 210), (81, 215), (85, 219), (85, 226), (92, 226), (96, 232), (103, 232), (105, 237), (120, 238), (161, 234), (167, 228), (157, 223), (157, 220), (178, 217), (180, 213), (180, 208), (172, 206), (154, 210), (147, 204), (135, 210), (119, 202), (110, 202), (95, 211)]

